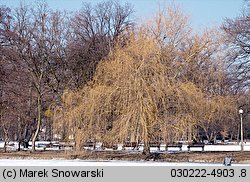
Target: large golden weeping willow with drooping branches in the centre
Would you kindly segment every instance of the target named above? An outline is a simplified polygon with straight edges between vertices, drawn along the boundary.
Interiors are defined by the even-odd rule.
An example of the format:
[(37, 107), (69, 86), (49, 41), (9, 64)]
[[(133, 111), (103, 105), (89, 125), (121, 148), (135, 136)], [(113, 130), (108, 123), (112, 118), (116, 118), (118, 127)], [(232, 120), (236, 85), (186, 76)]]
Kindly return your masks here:
[[(84, 141), (144, 144), (178, 139), (197, 123), (201, 91), (192, 83), (174, 83), (156, 39), (145, 29), (131, 34), (100, 62), (93, 81), (78, 92), (65, 91), (56, 124)], [(190, 131), (191, 132), (191, 131)]]

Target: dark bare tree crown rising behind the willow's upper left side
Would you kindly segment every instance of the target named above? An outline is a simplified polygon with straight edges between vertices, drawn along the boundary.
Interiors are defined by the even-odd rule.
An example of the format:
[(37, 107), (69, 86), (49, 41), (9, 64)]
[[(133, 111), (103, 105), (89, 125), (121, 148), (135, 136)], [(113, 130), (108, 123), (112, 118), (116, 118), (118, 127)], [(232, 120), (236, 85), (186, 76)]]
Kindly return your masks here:
[(71, 36), (68, 45), (68, 66), (71, 83), (79, 88), (92, 79), (98, 62), (108, 55), (117, 40), (126, 38), (133, 27), (133, 9), (116, 1), (85, 3), (71, 18)]

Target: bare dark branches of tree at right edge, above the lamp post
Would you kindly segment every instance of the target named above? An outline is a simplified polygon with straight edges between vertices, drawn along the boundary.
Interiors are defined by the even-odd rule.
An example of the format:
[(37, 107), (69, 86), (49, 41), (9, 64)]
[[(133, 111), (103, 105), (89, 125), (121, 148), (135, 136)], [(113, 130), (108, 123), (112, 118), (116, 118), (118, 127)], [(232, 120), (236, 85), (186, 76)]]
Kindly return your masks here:
[(242, 15), (227, 19), (222, 29), (226, 36), (228, 50), (228, 65), (232, 77), (236, 78), (235, 87), (249, 88), (250, 78), (250, 3), (246, 1), (246, 7)]

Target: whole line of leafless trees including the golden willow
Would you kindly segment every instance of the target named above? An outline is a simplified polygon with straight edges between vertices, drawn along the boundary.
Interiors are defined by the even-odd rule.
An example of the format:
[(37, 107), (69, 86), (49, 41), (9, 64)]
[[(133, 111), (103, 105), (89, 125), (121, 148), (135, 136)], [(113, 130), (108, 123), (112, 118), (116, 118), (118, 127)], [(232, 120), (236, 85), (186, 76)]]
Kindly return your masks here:
[(237, 138), (250, 104), (247, 10), (196, 34), (176, 7), (139, 25), (116, 1), (72, 14), (1, 6), (0, 137), (33, 150), (54, 134), (77, 150), (143, 142), (145, 154), (150, 142)]

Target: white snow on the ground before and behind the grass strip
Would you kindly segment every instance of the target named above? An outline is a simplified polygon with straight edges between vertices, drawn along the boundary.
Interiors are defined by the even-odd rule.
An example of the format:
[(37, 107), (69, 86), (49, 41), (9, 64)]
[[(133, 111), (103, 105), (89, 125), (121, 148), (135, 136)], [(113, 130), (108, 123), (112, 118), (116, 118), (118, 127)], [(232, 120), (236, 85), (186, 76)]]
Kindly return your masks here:
[[(46, 142), (45, 142), (46, 143)], [(36, 145), (42, 146), (44, 142), (37, 142)], [(8, 150), (15, 150), (18, 146), (17, 142), (9, 142)], [(3, 147), (3, 142), (0, 142), (0, 148)], [(122, 147), (118, 147), (121, 150)], [(37, 149), (43, 149), (39, 147)], [(205, 151), (240, 151), (240, 145), (205, 145)], [(47, 150), (47, 148), (46, 148)], [(54, 150), (58, 150), (55, 148)], [(131, 149), (128, 149), (131, 150)], [(142, 150), (140, 148), (139, 150)], [(156, 151), (157, 148), (151, 148), (151, 151)], [(165, 146), (161, 146), (161, 151), (165, 150)], [(169, 148), (169, 152), (177, 151), (178, 148)], [(191, 150), (201, 151), (201, 148)], [(244, 144), (244, 150), (250, 151), (250, 143)], [(187, 145), (182, 146), (182, 152), (187, 152)], [(221, 163), (175, 163), (175, 162), (153, 162), (153, 161), (86, 161), (86, 160), (22, 160), (22, 159), (0, 159), (0, 166), (222, 166)], [(250, 164), (232, 164), (233, 166), (250, 166)]]

